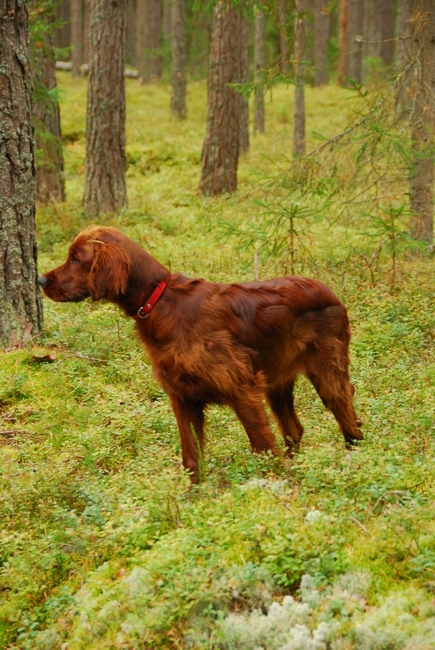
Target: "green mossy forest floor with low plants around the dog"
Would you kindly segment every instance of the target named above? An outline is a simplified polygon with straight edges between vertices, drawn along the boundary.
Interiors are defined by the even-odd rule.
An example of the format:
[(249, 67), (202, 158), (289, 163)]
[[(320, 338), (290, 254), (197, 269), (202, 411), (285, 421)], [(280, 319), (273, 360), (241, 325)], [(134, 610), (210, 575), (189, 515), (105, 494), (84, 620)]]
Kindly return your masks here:
[[(68, 201), (38, 209), (39, 269), (92, 223), (81, 208), (86, 82), (59, 74)], [(266, 103), (241, 189), (291, 151), (293, 90)], [(349, 117), (347, 91), (307, 89), (307, 128)], [(129, 207), (122, 229), (172, 271), (253, 279), (222, 219), (258, 212), (249, 193), (198, 196), (206, 84), (188, 119), (169, 88), (127, 81)], [(291, 462), (251, 454), (233, 412), (212, 407), (203, 482), (189, 492), (168, 399), (134, 323), (110, 304), (44, 298), (33, 347), (0, 363), (0, 647), (435, 648), (434, 262), (388, 260), (370, 277), (338, 225), (304, 240), (296, 273), (325, 281), (351, 322), (351, 376), (365, 441), (345, 450), (306, 380)], [(260, 277), (289, 273), (259, 260)], [(45, 358), (51, 355), (51, 358)], [(275, 425), (274, 425), (275, 426)]]

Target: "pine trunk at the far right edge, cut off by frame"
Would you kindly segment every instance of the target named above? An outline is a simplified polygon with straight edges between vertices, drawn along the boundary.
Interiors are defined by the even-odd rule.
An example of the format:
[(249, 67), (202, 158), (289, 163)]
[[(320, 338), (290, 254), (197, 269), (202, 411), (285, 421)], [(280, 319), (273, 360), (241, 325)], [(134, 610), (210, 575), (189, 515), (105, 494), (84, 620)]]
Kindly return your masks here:
[[(414, 239), (433, 242), (434, 129), (435, 129), (435, 3), (414, 0), (413, 36), (421, 62), (416, 83), (412, 139), (416, 156), (410, 183), (410, 233)], [(418, 71), (417, 71), (418, 77)]]

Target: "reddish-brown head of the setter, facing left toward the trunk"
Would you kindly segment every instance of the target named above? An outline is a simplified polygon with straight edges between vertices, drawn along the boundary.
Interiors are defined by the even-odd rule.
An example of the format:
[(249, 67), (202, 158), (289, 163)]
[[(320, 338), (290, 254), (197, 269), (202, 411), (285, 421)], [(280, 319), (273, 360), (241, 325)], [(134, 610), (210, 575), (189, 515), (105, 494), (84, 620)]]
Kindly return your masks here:
[(42, 275), (38, 282), (56, 302), (85, 298), (115, 300), (127, 289), (130, 240), (115, 228), (90, 226), (70, 246), (66, 262)]

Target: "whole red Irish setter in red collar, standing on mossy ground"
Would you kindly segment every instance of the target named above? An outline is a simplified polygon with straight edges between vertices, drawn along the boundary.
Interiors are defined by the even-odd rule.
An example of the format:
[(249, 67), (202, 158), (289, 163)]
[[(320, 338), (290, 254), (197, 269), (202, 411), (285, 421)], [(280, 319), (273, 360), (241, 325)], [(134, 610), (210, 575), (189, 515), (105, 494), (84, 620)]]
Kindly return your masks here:
[(293, 405), (299, 374), (333, 412), (346, 444), (363, 439), (349, 381), (346, 309), (321, 282), (190, 279), (170, 274), (118, 230), (91, 226), (78, 235), (66, 262), (39, 283), (53, 300), (105, 298), (136, 319), (155, 376), (171, 400), (183, 465), (194, 483), (207, 404), (231, 406), (252, 449), (278, 454), (265, 394), (288, 451), (299, 444), (303, 428)]

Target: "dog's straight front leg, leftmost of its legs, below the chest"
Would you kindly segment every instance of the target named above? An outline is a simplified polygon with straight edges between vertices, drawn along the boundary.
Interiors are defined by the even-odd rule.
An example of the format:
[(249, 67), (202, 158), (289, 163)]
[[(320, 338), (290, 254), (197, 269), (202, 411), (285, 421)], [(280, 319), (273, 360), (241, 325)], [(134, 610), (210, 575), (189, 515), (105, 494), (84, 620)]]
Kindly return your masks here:
[(189, 472), (192, 483), (199, 483), (198, 461), (204, 442), (204, 405), (176, 397), (171, 397), (171, 404), (180, 431), (183, 466)]

